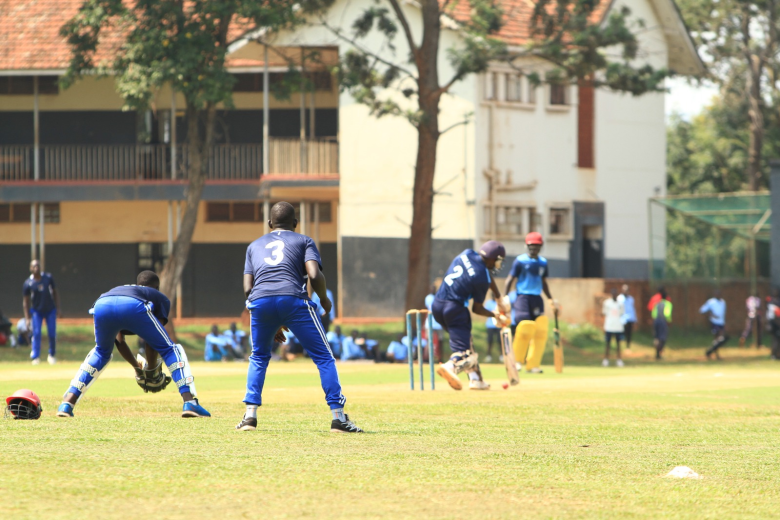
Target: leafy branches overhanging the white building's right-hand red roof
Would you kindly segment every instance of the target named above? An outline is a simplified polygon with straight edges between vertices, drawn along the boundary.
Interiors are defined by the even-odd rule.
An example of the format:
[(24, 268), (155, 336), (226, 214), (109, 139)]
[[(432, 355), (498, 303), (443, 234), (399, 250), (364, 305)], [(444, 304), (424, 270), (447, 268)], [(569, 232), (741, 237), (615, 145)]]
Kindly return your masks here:
[[(554, 64), (542, 79), (530, 72), (533, 84), (577, 82), (588, 79), (594, 86), (640, 96), (663, 92), (666, 69), (636, 66), (637, 30), (644, 21), (631, 20), (631, 10), (612, 11), (605, 23), (598, 19), (600, 3), (593, 0), (537, 0), (531, 19), (530, 54)], [(622, 61), (615, 61), (615, 48)]]

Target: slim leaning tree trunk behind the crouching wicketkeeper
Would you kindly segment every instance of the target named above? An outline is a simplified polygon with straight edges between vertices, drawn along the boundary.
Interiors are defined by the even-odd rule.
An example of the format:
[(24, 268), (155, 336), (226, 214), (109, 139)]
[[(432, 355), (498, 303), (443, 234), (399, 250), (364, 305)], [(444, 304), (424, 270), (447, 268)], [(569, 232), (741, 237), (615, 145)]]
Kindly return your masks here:
[[(201, 114), (205, 115), (206, 118), (205, 139), (201, 137), (200, 128), (198, 128)], [(203, 186), (206, 183), (209, 155), (214, 144), (215, 116), (214, 106), (209, 105), (205, 110), (200, 111), (194, 104), (187, 103), (187, 155), (189, 159), (187, 173), (189, 183), (185, 197), (186, 206), (179, 234), (173, 244), (173, 251), (168, 256), (168, 261), (160, 275), (160, 291), (171, 301), (176, 298), (176, 287), (181, 282), (181, 275), (187, 265), (192, 246), (192, 235), (195, 233), (195, 224), (198, 222), (198, 208), (203, 195)]]

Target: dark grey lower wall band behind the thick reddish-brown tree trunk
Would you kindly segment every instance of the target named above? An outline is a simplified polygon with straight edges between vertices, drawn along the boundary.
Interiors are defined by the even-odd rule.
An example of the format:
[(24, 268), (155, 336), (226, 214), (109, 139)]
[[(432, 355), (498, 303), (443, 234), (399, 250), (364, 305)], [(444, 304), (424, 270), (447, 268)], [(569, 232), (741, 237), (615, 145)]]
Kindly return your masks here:
[[(342, 237), (344, 316), (404, 314), (409, 239)], [(455, 255), (473, 246), (469, 239), (434, 240), (430, 279), (444, 276)]]

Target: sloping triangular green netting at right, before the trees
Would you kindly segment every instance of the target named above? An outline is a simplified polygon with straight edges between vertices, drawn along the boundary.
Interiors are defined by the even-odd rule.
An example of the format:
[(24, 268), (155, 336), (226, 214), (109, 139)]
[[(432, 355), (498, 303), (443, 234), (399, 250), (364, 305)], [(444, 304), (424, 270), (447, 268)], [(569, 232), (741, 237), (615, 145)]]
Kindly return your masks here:
[(771, 201), (768, 192), (658, 197), (652, 201), (745, 238), (769, 241)]

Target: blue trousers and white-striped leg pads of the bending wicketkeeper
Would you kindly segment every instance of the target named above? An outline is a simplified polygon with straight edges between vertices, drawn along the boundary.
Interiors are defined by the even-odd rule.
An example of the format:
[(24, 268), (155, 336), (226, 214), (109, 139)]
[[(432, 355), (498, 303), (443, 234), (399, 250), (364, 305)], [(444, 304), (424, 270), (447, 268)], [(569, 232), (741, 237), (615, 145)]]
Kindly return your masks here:
[(106, 296), (95, 303), (93, 314), (97, 345), (84, 360), (68, 392), (80, 396), (103, 370), (111, 360), (114, 339), (122, 330), (136, 333), (160, 354), (171, 371), (171, 377), (179, 385), (179, 393), (190, 391), (189, 383), (192, 383), (192, 378), (186, 354), (183, 354), (179, 345), (174, 345), (165, 328), (152, 314), (151, 303), (144, 303), (129, 296)]

